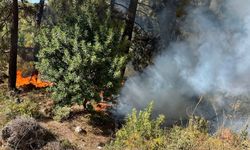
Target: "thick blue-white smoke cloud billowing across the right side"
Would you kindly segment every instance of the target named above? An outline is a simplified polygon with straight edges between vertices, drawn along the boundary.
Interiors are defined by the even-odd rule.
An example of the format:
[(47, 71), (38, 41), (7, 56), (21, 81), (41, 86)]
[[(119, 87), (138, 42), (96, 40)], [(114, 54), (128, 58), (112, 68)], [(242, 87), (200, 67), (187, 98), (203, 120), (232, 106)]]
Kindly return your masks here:
[(220, 0), (210, 7), (192, 7), (182, 28), (185, 40), (172, 42), (154, 65), (126, 81), (119, 113), (154, 101), (156, 114), (180, 119), (190, 114), (198, 96), (204, 96), (196, 113), (213, 119), (234, 111), (235, 103), (250, 102), (250, 1)]

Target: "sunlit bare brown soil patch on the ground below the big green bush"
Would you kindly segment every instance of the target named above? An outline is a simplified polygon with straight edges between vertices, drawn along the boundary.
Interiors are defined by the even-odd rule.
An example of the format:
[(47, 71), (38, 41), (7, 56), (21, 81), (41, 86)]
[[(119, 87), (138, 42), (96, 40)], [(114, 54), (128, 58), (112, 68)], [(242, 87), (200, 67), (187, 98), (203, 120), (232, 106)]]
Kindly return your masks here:
[[(110, 136), (104, 135), (100, 128), (90, 125), (89, 118), (86, 116), (79, 115), (64, 122), (43, 120), (40, 124), (56, 135), (58, 140), (68, 140), (80, 150), (98, 150), (98, 146), (110, 140)], [(76, 133), (74, 130), (77, 126), (80, 126), (84, 132)]]

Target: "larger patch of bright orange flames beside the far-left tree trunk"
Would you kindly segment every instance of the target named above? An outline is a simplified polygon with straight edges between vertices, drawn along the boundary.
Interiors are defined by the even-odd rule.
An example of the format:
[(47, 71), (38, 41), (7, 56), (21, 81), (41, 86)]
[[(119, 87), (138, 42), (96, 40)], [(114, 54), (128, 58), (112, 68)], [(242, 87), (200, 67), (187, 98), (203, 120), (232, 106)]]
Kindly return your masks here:
[(22, 71), (18, 70), (17, 71), (16, 87), (20, 88), (20, 87), (24, 87), (27, 85), (33, 85), (36, 88), (45, 88), (48, 86), (52, 86), (52, 83), (40, 80), (38, 78), (38, 73), (33, 73), (29, 77), (23, 77)]

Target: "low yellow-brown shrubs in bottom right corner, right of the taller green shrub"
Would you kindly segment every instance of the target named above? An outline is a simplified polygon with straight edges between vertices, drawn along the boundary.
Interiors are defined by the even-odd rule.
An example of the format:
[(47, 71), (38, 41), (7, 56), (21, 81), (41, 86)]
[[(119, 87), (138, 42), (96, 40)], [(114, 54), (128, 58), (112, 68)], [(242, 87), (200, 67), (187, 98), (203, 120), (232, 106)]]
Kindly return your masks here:
[[(167, 139), (165, 149), (240, 150), (249, 148), (250, 142), (246, 140), (245, 136), (235, 134), (230, 129), (218, 130), (217, 132), (219, 134), (211, 135), (208, 132), (206, 120), (197, 116), (191, 117), (187, 127), (174, 126), (168, 130), (165, 135)], [(225, 134), (227, 139), (221, 137), (222, 134)]]

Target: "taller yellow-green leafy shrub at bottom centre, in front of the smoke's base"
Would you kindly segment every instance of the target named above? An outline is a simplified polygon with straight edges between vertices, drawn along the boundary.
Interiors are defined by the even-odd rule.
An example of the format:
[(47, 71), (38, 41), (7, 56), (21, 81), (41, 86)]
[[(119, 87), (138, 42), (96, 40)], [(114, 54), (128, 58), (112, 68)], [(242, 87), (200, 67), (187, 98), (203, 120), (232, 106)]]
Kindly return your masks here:
[(126, 124), (116, 133), (115, 141), (106, 149), (159, 149), (165, 143), (165, 131), (160, 128), (164, 116), (151, 120), (152, 103), (137, 114), (133, 110)]

